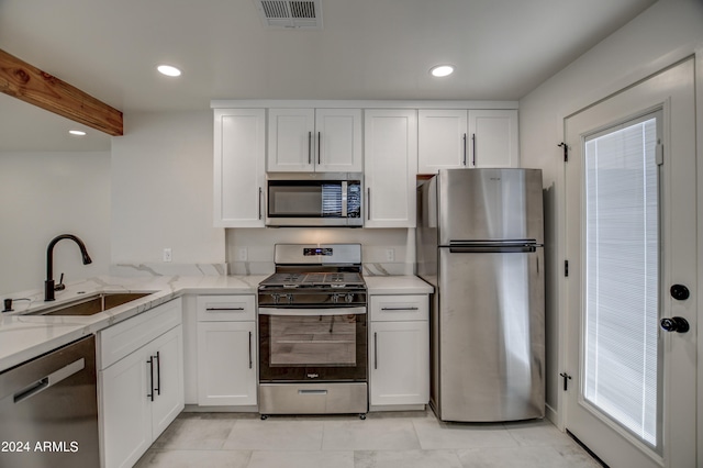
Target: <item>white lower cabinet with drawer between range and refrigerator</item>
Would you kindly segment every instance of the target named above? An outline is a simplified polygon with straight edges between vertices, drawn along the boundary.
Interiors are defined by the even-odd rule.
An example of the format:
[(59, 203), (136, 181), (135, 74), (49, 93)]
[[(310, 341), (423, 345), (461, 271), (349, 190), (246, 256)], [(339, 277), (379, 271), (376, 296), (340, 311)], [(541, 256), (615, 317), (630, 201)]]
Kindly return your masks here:
[(429, 401), (428, 297), (371, 296), (369, 405), (392, 410)]

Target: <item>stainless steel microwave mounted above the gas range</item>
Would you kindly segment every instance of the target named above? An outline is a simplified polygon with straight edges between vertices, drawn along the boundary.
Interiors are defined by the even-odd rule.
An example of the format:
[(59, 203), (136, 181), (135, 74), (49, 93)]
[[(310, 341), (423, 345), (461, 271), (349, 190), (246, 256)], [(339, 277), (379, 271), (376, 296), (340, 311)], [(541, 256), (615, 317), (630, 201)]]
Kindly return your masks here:
[(361, 227), (361, 174), (269, 174), (267, 226)]

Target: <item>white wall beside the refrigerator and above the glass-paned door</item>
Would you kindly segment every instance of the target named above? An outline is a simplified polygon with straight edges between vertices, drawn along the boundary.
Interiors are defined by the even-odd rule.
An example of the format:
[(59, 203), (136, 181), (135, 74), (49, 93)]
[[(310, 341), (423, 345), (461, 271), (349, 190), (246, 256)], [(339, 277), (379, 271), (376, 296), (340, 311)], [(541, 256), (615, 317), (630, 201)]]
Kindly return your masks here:
[[(547, 278), (547, 403), (554, 411), (559, 409), (558, 374), (563, 370), (558, 359), (563, 313), (559, 303), (563, 159), (557, 147), (563, 140), (563, 118), (696, 51), (696, 60), (701, 60), (702, 47), (703, 2), (660, 0), (520, 101), (521, 160), (525, 167), (543, 169), (546, 189), (546, 254), (551, 265)], [(700, 75), (698, 80), (700, 93)], [(700, 129), (698, 140), (703, 142)], [(554, 412), (550, 416), (558, 417)]]

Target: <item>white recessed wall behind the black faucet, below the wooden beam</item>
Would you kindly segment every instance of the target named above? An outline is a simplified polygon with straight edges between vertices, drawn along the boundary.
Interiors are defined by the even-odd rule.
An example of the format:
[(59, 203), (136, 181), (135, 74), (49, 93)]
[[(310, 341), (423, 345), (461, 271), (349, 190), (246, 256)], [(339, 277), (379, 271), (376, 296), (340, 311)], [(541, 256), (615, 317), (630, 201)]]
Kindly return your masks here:
[(110, 153), (0, 154), (0, 294), (42, 290), (46, 248), (58, 234), (80, 237), (93, 263), (83, 266), (78, 246), (54, 248), (54, 279), (104, 275), (110, 265)]

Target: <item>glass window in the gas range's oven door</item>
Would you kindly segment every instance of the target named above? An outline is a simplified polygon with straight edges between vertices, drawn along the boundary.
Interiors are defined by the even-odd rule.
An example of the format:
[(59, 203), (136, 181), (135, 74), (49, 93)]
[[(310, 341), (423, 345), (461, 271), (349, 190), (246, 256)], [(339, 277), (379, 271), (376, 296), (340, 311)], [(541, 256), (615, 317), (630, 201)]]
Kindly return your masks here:
[(355, 367), (357, 315), (270, 316), (271, 367)]

